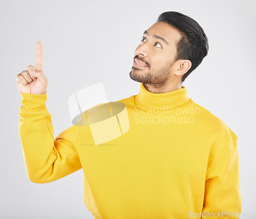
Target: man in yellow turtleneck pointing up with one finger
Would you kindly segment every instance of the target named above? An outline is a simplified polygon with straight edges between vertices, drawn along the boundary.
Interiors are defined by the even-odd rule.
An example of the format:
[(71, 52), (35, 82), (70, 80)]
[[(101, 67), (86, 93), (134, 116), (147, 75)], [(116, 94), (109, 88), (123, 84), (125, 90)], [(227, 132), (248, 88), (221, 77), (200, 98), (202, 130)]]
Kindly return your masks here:
[(48, 183), (82, 168), (84, 203), (95, 218), (239, 217), (237, 136), (187, 96), (184, 79), (207, 55), (203, 29), (178, 12), (161, 14), (135, 50), (138, 95), (122, 99), (129, 130), (94, 144), (90, 126), (53, 139), (45, 107), (41, 44), (36, 64), (17, 76), (20, 138), (28, 177)]

